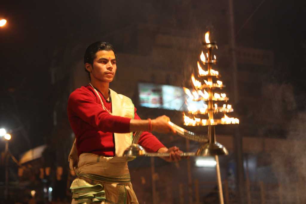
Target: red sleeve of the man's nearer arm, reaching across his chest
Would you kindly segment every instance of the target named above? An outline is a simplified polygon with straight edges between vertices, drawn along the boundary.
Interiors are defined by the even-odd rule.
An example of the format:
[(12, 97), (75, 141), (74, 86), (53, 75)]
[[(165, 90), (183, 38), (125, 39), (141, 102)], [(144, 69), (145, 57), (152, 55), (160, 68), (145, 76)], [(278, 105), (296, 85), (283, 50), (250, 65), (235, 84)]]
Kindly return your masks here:
[(79, 117), (102, 132), (130, 132), (130, 118), (112, 116), (97, 103), (96, 98), (86, 91), (76, 90), (68, 99), (70, 117)]

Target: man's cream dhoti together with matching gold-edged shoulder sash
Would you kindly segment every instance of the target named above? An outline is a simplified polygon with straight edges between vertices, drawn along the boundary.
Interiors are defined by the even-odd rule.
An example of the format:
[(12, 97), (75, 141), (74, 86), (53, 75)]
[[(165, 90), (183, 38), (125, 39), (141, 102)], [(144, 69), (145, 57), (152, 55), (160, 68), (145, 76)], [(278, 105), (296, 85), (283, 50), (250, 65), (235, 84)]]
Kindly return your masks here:
[[(111, 91), (113, 115), (134, 118), (128, 97)], [(132, 143), (132, 133), (114, 133), (115, 157), (92, 153), (78, 156), (75, 142), (69, 154), (70, 169), (78, 176), (71, 184), (72, 203), (138, 204), (133, 191), (124, 150)]]

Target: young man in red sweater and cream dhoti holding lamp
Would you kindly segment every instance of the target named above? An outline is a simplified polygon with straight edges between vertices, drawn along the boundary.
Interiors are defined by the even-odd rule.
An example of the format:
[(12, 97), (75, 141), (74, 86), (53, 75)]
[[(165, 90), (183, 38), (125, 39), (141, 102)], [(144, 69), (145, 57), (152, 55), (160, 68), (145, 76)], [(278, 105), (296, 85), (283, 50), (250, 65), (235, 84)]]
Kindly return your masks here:
[[(169, 117), (141, 120), (131, 99), (109, 89), (117, 71), (116, 53), (110, 43), (96, 42), (84, 55), (88, 86), (68, 99), (68, 117), (76, 141), (69, 154), (77, 178), (71, 185), (72, 203), (138, 203), (130, 182), (124, 150), (132, 132), (144, 131), (139, 144), (148, 152), (169, 152), (166, 161), (180, 160), (177, 147), (166, 148), (151, 131), (175, 133)], [(149, 131), (149, 132), (147, 132)]]

